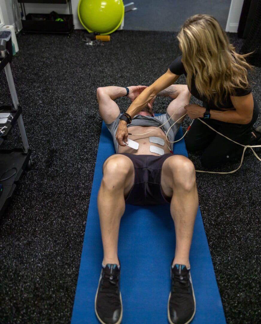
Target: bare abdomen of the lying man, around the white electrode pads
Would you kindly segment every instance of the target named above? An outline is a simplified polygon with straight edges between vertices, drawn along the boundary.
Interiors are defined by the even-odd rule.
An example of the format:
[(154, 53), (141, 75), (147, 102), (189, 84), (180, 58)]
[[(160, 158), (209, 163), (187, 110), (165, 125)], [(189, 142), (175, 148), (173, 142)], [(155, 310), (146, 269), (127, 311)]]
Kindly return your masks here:
[[(155, 131), (150, 132), (145, 135), (134, 135), (134, 134), (147, 133), (153, 129)], [(137, 155), (149, 154), (149, 155), (159, 156), (157, 153), (150, 152), (150, 149), (149, 149), (150, 145), (154, 145), (154, 146), (157, 146), (157, 147), (163, 149), (164, 153), (170, 153), (168, 146), (170, 147), (171, 144), (166, 140), (166, 135), (160, 128), (157, 129), (157, 127), (155, 127), (155, 126), (130, 126), (130, 127), (128, 127), (128, 132), (133, 134), (133, 135), (129, 135), (128, 138), (139, 143), (138, 150), (135, 150), (127, 145), (126, 146), (119, 145), (117, 153), (132, 153), (132, 154), (137, 154)], [(162, 146), (162, 145), (159, 145), (156, 143), (151, 143), (149, 141), (150, 136), (156, 136), (156, 137), (162, 138), (164, 140), (165, 145)]]

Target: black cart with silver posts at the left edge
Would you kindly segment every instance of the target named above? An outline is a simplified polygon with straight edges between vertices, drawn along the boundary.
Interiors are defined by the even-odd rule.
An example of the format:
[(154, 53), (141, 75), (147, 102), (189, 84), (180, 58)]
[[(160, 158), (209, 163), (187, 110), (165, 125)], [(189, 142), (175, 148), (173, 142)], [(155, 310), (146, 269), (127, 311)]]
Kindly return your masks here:
[[(11, 31), (8, 31), (11, 34)], [(10, 61), (12, 50), (10, 48), (11, 39), (5, 41), (1, 39), (0, 32), (0, 72), (5, 69), (12, 106), (0, 106), (0, 113), (8, 113), (8, 121), (0, 124), (0, 146), (6, 140), (13, 126), (18, 123), (24, 148), (14, 148), (12, 150), (0, 149), (0, 216), (4, 214), (5, 208), (10, 203), (21, 176), (26, 169), (31, 168), (31, 150), (27, 141), (27, 135), (22, 118), (22, 108), (19, 105), (16, 88), (11, 72)]]

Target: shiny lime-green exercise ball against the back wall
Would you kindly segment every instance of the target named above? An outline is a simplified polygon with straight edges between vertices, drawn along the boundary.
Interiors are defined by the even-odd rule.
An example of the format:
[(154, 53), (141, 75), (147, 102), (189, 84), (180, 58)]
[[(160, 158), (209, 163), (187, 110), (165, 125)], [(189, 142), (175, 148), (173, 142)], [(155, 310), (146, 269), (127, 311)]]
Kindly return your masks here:
[(89, 33), (108, 35), (120, 27), (124, 4), (122, 0), (80, 0), (78, 16)]

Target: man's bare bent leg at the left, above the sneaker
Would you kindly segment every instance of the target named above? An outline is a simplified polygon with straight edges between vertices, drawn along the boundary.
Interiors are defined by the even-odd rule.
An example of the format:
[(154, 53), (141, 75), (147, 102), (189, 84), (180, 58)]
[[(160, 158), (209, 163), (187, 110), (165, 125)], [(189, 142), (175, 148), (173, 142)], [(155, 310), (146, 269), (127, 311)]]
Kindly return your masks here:
[(125, 199), (134, 183), (134, 167), (124, 155), (110, 156), (103, 165), (103, 179), (98, 193), (98, 211), (103, 241), (103, 264), (117, 264), (118, 236)]

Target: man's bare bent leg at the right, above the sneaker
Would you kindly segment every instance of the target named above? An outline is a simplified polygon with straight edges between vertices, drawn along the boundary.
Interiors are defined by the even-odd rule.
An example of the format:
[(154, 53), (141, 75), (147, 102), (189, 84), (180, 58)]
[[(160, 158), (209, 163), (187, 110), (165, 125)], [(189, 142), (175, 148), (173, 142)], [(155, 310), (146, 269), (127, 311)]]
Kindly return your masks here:
[(162, 166), (161, 187), (166, 196), (172, 197), (170, 213), (176, 233), (173, 265), (190, 268), (190, 246), (199, 204), (193, 163), (185, 156), (169, 157)]

